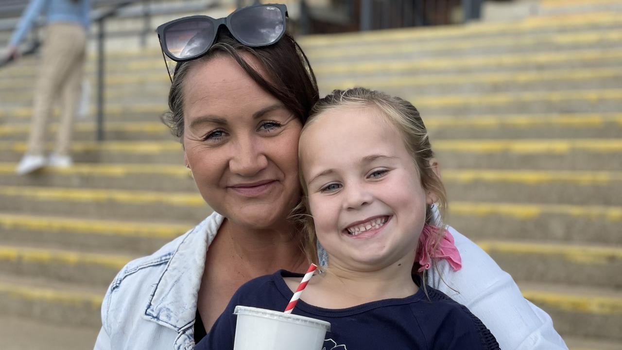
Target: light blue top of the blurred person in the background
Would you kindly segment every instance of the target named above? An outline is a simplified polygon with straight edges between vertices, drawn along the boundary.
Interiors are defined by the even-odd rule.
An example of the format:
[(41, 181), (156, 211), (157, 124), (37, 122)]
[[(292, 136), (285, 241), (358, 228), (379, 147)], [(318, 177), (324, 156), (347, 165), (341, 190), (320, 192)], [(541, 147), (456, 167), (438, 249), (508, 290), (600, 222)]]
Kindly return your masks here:
[(32, 28), (35, 20), (45, 9), (47, 23), (68, 22), (81, 24), (88, 29), (91, 25), (91, 1), (90, 0), (30, 0), (26, 11), (17, 24), (9, 45), (18, 45), (24, 39), (24, 35)]

